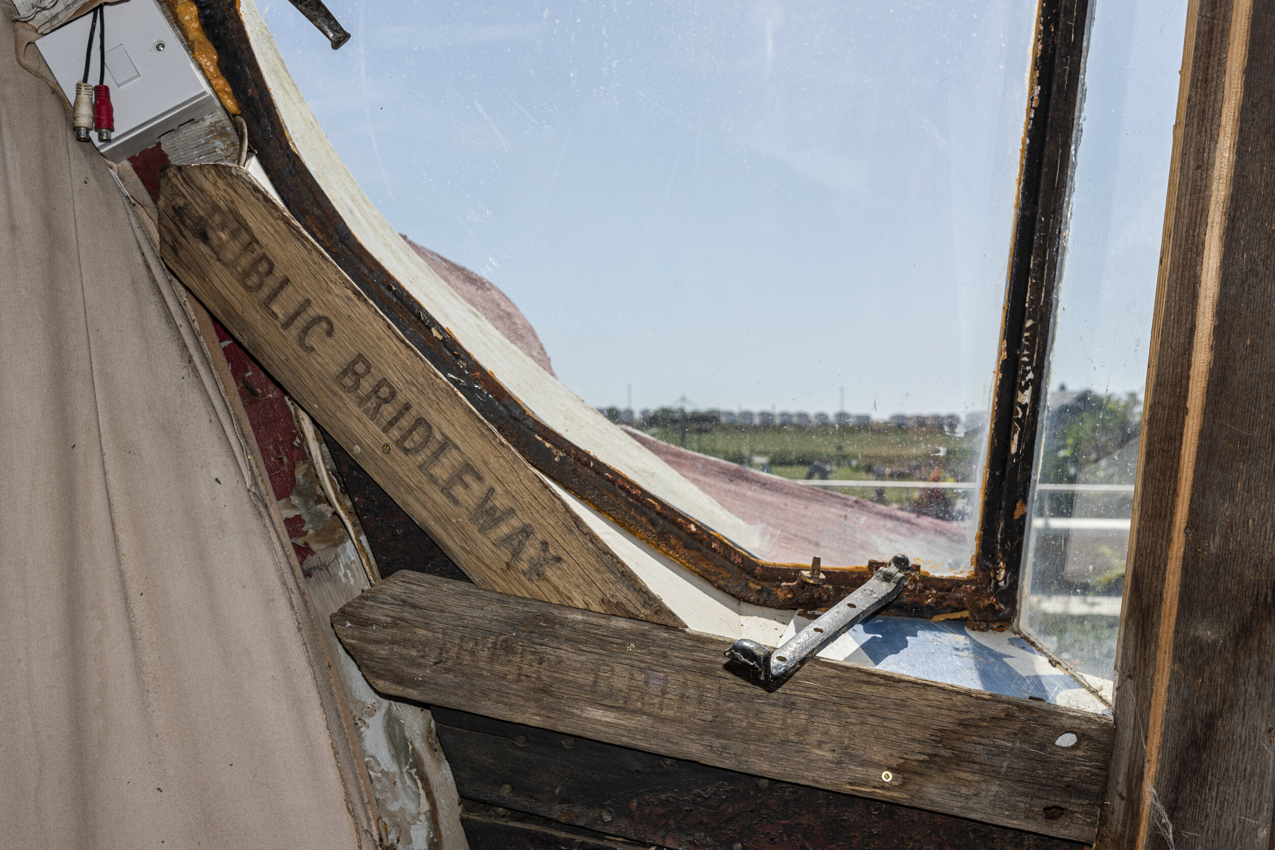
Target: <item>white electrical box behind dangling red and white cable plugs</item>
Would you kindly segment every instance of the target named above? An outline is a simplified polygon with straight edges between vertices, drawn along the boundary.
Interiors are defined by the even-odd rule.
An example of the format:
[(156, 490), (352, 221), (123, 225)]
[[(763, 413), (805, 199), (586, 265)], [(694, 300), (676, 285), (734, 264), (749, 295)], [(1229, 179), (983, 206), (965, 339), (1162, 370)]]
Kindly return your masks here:
[[(115, 133), (110, 141), (93, 144), (113, 162), (145, 150), (164, 133), (218, 108), (203, 71), (186, 54), (180, 37), (156, 0), (127, 0), (105, 6), (106, 84), (115, 107)], [(75, 83), (84, 75), (84, 50), (92, 14), (48, 33), (36, 42), (48, 68), (75, 102)], [(99, 36), (93, 33), (88, 82), (97, 85)]]

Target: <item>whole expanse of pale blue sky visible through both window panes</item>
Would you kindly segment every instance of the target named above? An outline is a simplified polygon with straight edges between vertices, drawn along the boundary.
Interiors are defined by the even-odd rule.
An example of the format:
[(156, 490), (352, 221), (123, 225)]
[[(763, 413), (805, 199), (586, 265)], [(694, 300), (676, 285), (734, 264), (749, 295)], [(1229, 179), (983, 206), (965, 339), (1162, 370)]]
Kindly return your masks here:
[[(639, 408), (834, 410), (844, 387), (878, 417), (986, 409), (1034, 4), (329, 6), (353, 33), (335, 52), (291, 4), (263, 13), (338, 153), (395, 228), (500, 285), (590, 404), (631, 384)], [(1052, 384), (1141, 385), (1145, 344), (1119, 339), (1149, 333), (1149, 150), (1167, 175), (1177, 90), (1151, 52), (1103, 74), (1141, 62), (1119, 98), (1170, 87), (1163, 131), (1086, 124), (1081, 164), (1089, 145), (1108, 169), (1077, 182), (1075, 229), (1098, 223)], [(1137, 90), (1154, 124), (1163, 97)]]

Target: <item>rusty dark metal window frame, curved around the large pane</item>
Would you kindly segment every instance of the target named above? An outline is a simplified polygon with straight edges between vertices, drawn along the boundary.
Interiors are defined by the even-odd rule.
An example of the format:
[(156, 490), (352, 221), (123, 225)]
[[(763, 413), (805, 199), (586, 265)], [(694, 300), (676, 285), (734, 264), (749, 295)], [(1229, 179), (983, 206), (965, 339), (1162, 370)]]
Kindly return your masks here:
[[(798, 565), (761, 562), (738, 549), (719, 552), (719, 543), (708, 529), (697, 526), (696, 517), (662, 503), (632, 482), (616, 488), (615, 477), (603, 475), (612, 492), (607, 482), (590, 478), (606, 473), (606, 465), (581, 455), (579, 447), (539, 423), (502, 386), (487, 381), (490, 376), (464, 345), (448, 329), (436, 326), (427, 311), (407, 297), (393, 275), (353, 238), (288, 143), (233, 4), (195, 0), (195, 5), (204, 34), (222, 57), (223, 82), (236, 94), (249, 136), (284, 205), (422, 354), (440, 368), (460, 368), (474, 376), (473, 393), (467, 399), (533, 466), (548, 470), (546, 474), (570, 468), (569, 479), (560, 482), (569, 491), (640, 539), (658, 542), (657, 548), (743, 601), (824, 608), (867, 579), (868, 573), (862, 572), (829, 573), (831, 580), (826, 585), (803, 584)], [(900, 596), (891, 605), (894, 613), (932, 616), (968, 609), (974, 619), (1012, 621), (1017, 612), (1039, 381), (1053, 326), (1089, 9), (1089, 0), (1040, 0), (1038, 6), (973, 581), (927, 577), (915, 593)], [(562, 457), (578, 463), (558, 464)]]

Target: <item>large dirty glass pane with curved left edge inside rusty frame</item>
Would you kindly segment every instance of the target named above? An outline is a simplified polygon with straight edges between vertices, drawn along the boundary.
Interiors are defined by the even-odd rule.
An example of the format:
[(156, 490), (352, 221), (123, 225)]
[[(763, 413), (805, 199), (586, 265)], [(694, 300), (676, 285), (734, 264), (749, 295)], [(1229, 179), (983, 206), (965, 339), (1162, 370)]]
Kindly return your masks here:
[(261, 10), (380, 210), (756, 554), (969, 568), (1035, 3), (328, 5)]

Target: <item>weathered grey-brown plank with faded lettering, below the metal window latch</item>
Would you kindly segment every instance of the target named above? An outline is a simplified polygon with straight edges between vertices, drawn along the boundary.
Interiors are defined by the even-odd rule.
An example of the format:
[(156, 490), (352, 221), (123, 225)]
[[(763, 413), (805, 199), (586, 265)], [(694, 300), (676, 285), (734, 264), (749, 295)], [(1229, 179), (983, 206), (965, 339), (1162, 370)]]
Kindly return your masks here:
[[(386, 693), (1063, 839), (1094, 833), (1112, 738), (1099, 715), (824, 660), (771, 693), (723, 666), (720, 637), (413, 572), (333, 626)], [(1057, 746), (1067, 733), (1076, 742)]]

